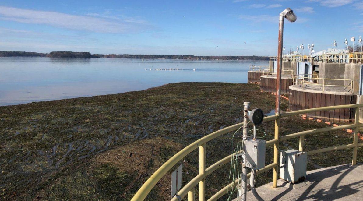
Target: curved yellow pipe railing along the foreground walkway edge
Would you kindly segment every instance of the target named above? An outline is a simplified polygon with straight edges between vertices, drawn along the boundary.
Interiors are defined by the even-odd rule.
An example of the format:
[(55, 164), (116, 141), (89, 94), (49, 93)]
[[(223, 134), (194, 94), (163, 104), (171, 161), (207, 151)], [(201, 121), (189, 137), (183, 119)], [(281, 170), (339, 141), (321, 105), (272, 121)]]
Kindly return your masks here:
[[(345, 145), (339, 145), (334, 147), (327, 147), (322, 149), (316, 149), (313, 151), (307, 152), (307, 155), (313, 155), (316, 153), (323, 153), (323, 152), (329, 152), (339, 149), (346, 149), (346, 148), (354, 148), (352, 153), (352, 165), (356, 164), (356, 158), (357, 158), (357, 149), (358, 147), (362, 147), (363, 143), (358, 143), (358, 128), (363, 127), (363, 124), (359, 123), (359, 108), (363, 107), (363, 104), (349, 104), (349, 105), (340, 105), (340, 106), (328, 106), (328, 107), (319, 107), (319, 108), (311, 108), (311, 109), (305, 109), (305, 110), (298, 110), (298, 111), (291, 111), (291, 112), (285, 112), (278, 115), (272, 115), (267, 116), (264, 118), (264, 122), (269, 122), (274, 120), (275, 122), (275, 132), (274, 132), (274, 139), (269, 140), (266, 142), (266, 146), (268, 145), (274, 145), (274, 159), (273, 163), (266, 165), (264, 168), (260, 169), (256, 173), (262, 173), (265, 171), (268, 171), (269, 169), (273, 169), (273, 187), (277, 187), (277, 179), (278, 179), (278, 147), (279, 142), (283, 140), (288, 140), (291, 138), (299, 138), (299, 151), (304, 150), (304, 139), (305, 136), (313, 135), (321, 132), (327, 132), (327, 131), (335, 131), (335, 130), (341, 130), (341, 129), (347, 129), (347, 128), (354, 128), (354, 134), (353, 134), (353, 141), (351, 144), (345, 144)], [(346, 109), (346, 108), (355, 108), (355, 122), (354, 124), (348, 124), (348, 125), (342, 125), (342, 126), (336, 126), (336, 127), (326, 127), (326, 128), (317, 128), (313, 130), (307, 130), (302, 132), (297, 132), (289, 135), (280, 136), (280, 118), (293, 116), (293, 115), (299, 115), (299, 114), (306, 114), (311, 112), (318, 112), (318, 111), (326, 111), (326, 110), (338, 110), (338, 109)], [(182, 149), (180, 152), (176, 153), (174, 156), (172, 156), (166, 163), (164, 163), (158, 170), (154, 172), (154, 174), (151, 175), (151, 177), (141, 186), (141, 188), (136, 192), (135, 196), (132, 198), (132, 201), (141, 201), (144, 200), (147, 196), (147, 194), (151, 191), (152, 188), (154, 188), (155, 184), (158, 183), (158, 181), (172, 168), (174, 165), (179, 163), (181, 159), (183, 159), (185, 156), (187, 156), (190, 152), (193, 150), (199, 148), (199, 174), (194, 177), (191, 181), (189, 181), (183, 188), (181, 188), (178, 192), (178, 197), (173, 197), (172, 201), (178, 201), (178, 199), (184, 198), (186, 195), (188, 195), (188, 201), (193, 201), (195, 194), (194, 194), (194, 187), (199, 183), (199, 200), (204, 201), (205, 200), (205, 178), (210, 175), (213, 171), (220, 168), (222, 165), (225, 165), (231, 161), (232, 155), (229, 155), (227, 157), (224, 157), (217, 163), (209, 166), (208, 168), (205, 167), (205, 143), (208, 141), (215, 139), (221, 135), (227, 134), (228, 132), (235, 131), (238, 128), (242, 127), (243, 123), (234, 124), (232, 126), (229, 126), (227, 128), (223, 128), (219, 131), (213, 132), (207, 136), (204, 136), (203, 138), (200, 138), (199, 140), (195, 141), (194, 143), (188, 145), (184, 149)], [(238, 154), (238, 152), (237, 152)], [(248, 175), (248, 177), (250, 174)], [(236, 186), (238, 184), (240, 179), (237, 179), (236, 181), (232, 182), (231, 184), (225, 186), (222, 188), (219, 192), (214, 194), (212, 197), (208, 199), (208, 201), (214, 201), (218, 200), (220, 197), (222, 197), (225, 193), (227, 193), (228, 189), (231, 189), (232, 186)]]

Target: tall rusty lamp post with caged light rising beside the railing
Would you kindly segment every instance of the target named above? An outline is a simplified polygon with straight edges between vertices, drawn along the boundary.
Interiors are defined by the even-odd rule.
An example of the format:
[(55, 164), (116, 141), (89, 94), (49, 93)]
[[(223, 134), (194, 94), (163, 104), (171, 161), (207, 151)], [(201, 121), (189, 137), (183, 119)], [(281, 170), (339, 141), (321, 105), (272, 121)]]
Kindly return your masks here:
[[(276, 79), (276, 107), (275, 114), (280, 116), (280, 95), (281, 95), (281, 67), (282, 67), (282, 42), (284, 36), (284, 19), (290, 22), (296, 21), (296, 15), (291, 10), (291, 8), (286, 8), (280, 13), (279, 25), (278, 25), (278, 47), (277, 47), (277, 79)], [(278, 128), (280, 127), (280, 120), (275, 120), (275, 139), (278, 140)], [(278, 142), (277, 142), (278, 143)], [(274, 145), (274, 163), (279, 164), (278, 161), (278, 144)], [(273, 168), (273, 187), (277, 187), (277, 177), (278, 177), (278, 165)]]

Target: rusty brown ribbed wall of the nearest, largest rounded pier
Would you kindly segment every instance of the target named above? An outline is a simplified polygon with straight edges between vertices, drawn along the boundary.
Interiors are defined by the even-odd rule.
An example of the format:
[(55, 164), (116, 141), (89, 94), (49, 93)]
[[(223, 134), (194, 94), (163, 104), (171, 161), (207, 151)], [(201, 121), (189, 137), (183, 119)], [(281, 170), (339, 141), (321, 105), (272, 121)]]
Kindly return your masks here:
[[(296, 90), (290, 90), (290, 93), (289, 111), (356, 103), (354, 95), (321, 94)], [(354, 122), (354, 112), (355, 108), (350, 108), (313, 112), (306, 115), (330, 122)]]

